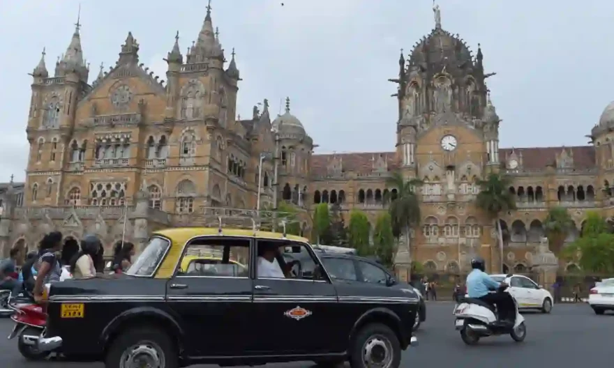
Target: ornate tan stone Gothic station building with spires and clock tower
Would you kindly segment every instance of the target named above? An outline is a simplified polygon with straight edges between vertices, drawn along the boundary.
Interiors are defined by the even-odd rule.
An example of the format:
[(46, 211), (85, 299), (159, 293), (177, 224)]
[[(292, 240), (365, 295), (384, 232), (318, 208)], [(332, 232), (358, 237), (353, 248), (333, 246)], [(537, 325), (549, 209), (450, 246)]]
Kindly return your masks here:
[[(263, 98), (262, 111), (254, 107), (250, 118), (239, 118), (239, 82), (248, 76), (240, 75), (234, 52), (223, 49), (210, 7), (186, 54), (170, 37), (163, 78), (140, 62), (131, 33), (117, 63), (90, 75), (77, 25), (54, 70), (43, 54), (31, 73), (27, 180), (3, 186), (3, 252), (32, 247), (52, 229), (67, 238), (96, 233), (107, 247), (122, 236), (143, 244), (153, 230), (202, 223), (203, 208), (253, 209), (258, 197), (261, 208), (288, 201), (311, 211), (336, 203), (374, 220), (396, 190), (387, 177), (401, 171), (424, 181), (423, 218), (411, 233), (414, 261), (458, 272), (478, 252), (493, 269), (501, 261), (509, 270), (532, 266), (548, 207), (569, 208), (578, 229), (569, 241), (587, 210), (611, 210), (614, 105), (593, 128), (591, 146), (500, 148), (501, 120), (488, 96), (481, 49), (472, 54), (444, 31), (439, 10), (435, 19), (435, 28), (400, 56), (392, 79), (396, 147), (334, 155), (313, 153), (290, 100), (278, 116)], [(497, 170), (513, 178), (509, 190), (518, 204), (502, 214), (508, 234), (502, 252), (493, 221), (474, 206), (474, 179)], [(408, 253), (400, 247), (401, 268)]]

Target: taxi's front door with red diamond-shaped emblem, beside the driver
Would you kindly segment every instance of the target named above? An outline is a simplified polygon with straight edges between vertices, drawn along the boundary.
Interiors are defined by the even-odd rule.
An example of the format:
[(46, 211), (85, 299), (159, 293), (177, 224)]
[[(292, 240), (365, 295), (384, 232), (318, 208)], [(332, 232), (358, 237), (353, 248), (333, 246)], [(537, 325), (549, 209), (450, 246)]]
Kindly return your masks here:
[[(256, 249), (264, 243), (290, 244), (287, 240), (257, 239)], [(292, 245), (301, 249), (298, 254), (302, 254), (303, 270), (315, 266), (313, 251), (304, 243)], [(314, 264), (310, 266), (310, 262)], [(312, 273), (270, 278), (257, 277), (257, 272), (256, 265), (252, 323), (260, 335), (250, 349), (257, 349), (260, 355), (326, 353), (338, 344), (336, 337), (327, 335), (338, 306), (336, 289), (328, 280), (313, 279)]]

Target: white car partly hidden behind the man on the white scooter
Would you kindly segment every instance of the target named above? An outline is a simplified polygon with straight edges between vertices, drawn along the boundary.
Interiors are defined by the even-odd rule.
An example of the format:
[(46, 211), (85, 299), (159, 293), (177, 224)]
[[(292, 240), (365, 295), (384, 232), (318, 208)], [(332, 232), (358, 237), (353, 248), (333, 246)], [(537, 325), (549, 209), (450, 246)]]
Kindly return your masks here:
[(552, 311), (554, 298), (550, 291), (535, 284), (529, 277), (523, 275), (491, 275), (491, 277), (497, 282), (509, 285), (508, 291), (516, 298), (518, 309), (540, 309), (543, 313)]

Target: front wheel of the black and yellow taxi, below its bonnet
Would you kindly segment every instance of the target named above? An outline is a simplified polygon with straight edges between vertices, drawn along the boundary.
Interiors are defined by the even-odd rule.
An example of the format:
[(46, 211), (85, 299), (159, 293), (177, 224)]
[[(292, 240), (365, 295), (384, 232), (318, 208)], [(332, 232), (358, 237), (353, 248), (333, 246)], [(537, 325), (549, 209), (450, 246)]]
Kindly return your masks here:
[(352, 339), (350, 365), (352, 368), (398, 368), (400, 355), (396, 334), (387, 325), (370, 323)]

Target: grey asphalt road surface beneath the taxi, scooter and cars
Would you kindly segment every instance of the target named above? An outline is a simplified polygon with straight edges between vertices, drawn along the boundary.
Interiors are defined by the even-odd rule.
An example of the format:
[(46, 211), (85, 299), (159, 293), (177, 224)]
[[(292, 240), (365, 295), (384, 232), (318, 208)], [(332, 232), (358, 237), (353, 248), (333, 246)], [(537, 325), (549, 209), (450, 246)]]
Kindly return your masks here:
[[(597, 316), (585, 304), (555, 305), (550, 315), (525, 314), (527, 339), (521, 344), (514, 343), (509, 336), (502, 336), (483, 339), (479, 346), (465, 346), (454, 330), (452, 307), (450, 302), (428, 304), (428, 320), (417, 333), (420, 346), (405, 351), (403, 367), (576, 368), (589, 362), (601, 367), (611, 366), (614, 314)], [(16, 342), (3, 339), (10, 328), (9, 321), (0, 321), (1, 367), (103, 367), (84, 363), (25, 362), (17, 352)], [(307, 368), (313, 365), (270, 367)]]

